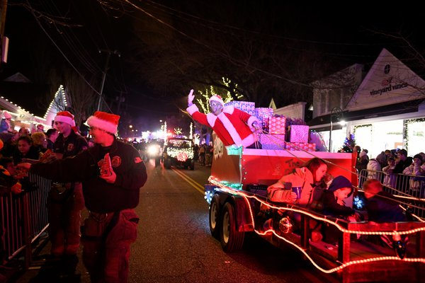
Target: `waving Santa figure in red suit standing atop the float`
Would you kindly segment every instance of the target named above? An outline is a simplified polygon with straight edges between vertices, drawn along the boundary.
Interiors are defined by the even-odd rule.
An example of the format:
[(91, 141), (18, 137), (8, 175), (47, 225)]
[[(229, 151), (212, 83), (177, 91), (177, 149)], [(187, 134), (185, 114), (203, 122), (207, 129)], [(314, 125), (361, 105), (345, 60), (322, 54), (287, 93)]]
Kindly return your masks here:
[(255, 144), (259, 145), (256, 133), (261, 132), (261, 127), (256, 117), (233, 106), (225, 106), (220, 96), (210, 97), (211, 113), (205, 115), (193, 104), (193, 98), (192, 89), (186, 110), (194, 120), (211, 127), (225, 146), (254, 148)]

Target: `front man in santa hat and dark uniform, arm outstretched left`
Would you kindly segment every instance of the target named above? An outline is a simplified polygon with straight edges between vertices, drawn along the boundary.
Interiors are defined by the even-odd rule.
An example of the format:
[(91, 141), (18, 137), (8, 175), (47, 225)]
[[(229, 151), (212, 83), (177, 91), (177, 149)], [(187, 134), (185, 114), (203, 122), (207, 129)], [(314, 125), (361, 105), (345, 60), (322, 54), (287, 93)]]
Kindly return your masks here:
[(18, 165), (52, 180), (83, 183), (89, 209), (84, 221), (83, 261), (91, 282), (128, 282), (130, 244), (136, 241), (139, 221), (134, 208), (147, 180), (139, 152), (115, 138), (119, 119), (96, 111), (86, 121), (94, 146), (73, 158)]

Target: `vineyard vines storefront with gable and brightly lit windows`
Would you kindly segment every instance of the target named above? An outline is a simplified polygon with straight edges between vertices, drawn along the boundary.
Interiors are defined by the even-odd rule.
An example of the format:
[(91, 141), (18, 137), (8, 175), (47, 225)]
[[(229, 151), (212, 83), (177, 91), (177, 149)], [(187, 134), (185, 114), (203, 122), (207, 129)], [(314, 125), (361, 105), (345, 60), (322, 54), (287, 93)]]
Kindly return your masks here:
[[(314, 117), (310, 129), (322, 134), (328, 149), (331, 138), (333, 152), (350, 134), (356, 144), (368, 149), (370, 158), (385, 149), (407, 149), (409, 156), (425, 152), (424, 90), (425, 81), (384, 49), (348, 103), (342, 105), (347, 93), (339, 91), (340, 103), (328, 105), (327, 113)], [(317, 97), (338, 101), (334, 91), (325, 92)], [(323, 105), (326, 102), (317, 100), (313, 107)], [(337, 115), (329, 111), (336, 108), (341, 110)]]

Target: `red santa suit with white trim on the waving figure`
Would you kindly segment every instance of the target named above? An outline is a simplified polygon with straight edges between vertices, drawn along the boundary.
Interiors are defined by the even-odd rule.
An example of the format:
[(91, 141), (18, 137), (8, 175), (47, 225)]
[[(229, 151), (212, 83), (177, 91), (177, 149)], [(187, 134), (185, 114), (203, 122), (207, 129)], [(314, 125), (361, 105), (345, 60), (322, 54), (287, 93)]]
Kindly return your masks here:
[(210, 126), (220, 137), (225, 146), (250, 146), (254, 144), (253, 130), (249, 127), (253, 122), (259, 122), (256, 117), (241, 111), (233, 106), (225, 106), (219, 115), (199, 112), (198, 107), (193, 104), (187, 109), (194, 120), (205, 126)]

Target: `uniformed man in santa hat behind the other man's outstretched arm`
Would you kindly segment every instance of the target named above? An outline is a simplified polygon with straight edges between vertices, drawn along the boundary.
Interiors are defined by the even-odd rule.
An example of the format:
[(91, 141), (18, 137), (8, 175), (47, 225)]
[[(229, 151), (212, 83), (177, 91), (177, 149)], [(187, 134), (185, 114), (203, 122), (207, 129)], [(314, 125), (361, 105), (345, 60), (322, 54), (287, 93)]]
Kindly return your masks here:
[[(75, 156), (89, 147), (86, 139), (72, 130), (74, 126), (74, 115), (68, 111), (57, 112), (55, 128), (60, 134), (53, 145), (53, 152), (58, 158)], [(77, 255), (81, 238), (82, 209), (84, 197), (80, 182), (55, 184), (52, 187), (47, 198), (52, 255)]]

